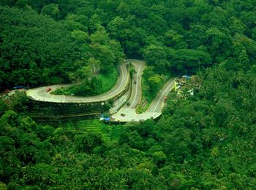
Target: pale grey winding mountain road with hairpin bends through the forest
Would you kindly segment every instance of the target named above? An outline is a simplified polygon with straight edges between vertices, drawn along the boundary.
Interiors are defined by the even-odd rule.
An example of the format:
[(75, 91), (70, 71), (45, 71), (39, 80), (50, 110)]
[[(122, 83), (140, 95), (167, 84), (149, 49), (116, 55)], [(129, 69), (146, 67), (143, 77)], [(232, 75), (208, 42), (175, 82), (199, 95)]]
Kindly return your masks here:
[(125, 90), (127, 84), (129, 84), (129, 71), (128, 65), (132, 63), (135, 66), (135, 74), (132, 76), (132, 88), (131, 95), (129, 97), (129, 106), (125, 104), (119, 109), (116, 114), (112, 115), (112, 119), (117, 122), (131, 122), (131, 121), (143, 121), (150, 118), (157, 118), (161, 115), (162, 108), (165, 103), (165, 96), (170, 92), (170, 90), (174, 87), (175, 79), (170, 79), (166, 82), (162, 90), (159, 91), (156, 98), (151, 103), (151, 106), (148, 110), (143, 114), (136, 114), (135, 109), (137, 108), (140, 100), (142, 98), (142, 90), (141, 90), (141, 78), (143, 74), (143, 70), (146, 64), (141, 60), (129, 59), (124, 60), (124, 63), (118, 65), (118, 81), (112, 90), (93, 97), (78, 97), (74, 95), (51, 95), (50, 92), (46, 92), (46, 89), (50, 87), (52, 90), (56, 90), (60, 87), (68, 87), (72, 84), (59, 84), (59, 85), (51, 85), (48, 87), (38, 87), (31, 90), (28, 90), (27, 95), (39, 101), (47, 101), (47, 102), (61, 102), (61, 103), (90, 103), (90, 102), (102, 102), (108, 101), (111, 98), (116, 97), (121, 92)]

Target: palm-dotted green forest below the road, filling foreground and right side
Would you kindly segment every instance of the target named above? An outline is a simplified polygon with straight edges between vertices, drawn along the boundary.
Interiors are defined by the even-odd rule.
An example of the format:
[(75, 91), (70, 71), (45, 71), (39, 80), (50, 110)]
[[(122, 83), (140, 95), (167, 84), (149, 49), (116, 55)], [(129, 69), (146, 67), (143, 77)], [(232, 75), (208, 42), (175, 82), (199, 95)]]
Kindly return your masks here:
[(255, 71), (211, 68), (195, 96), (171, 95), (162, 118), (124, 125), (118, 144), (7, 111), (0, 119), (8, 188), (253, 189)]

